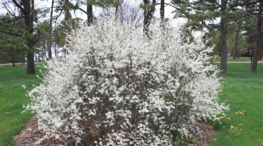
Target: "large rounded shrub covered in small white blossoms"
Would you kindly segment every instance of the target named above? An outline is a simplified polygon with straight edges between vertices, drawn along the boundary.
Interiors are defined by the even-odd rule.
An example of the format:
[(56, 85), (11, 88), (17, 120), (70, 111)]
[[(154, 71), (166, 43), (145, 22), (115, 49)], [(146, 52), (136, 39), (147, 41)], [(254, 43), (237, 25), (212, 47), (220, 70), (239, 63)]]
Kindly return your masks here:
[(51, 60), (29, 96), (46, 137), (84, 145), (172, 145), (219, 119), (219, 71), (204, 64), (201, 39), (184, 42), (179, 25), (153, 22), (149, 37), (100, 19), (68, 36), (64, 61)]

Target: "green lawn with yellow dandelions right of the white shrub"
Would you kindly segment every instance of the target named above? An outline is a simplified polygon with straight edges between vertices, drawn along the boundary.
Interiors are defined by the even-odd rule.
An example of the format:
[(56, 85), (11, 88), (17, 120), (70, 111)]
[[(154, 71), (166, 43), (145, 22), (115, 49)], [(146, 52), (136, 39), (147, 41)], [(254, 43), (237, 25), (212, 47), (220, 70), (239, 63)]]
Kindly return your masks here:
[[(223, 122), (217, 140), (213, 146), (256, 146), (263, 142), (263, 64), (258, 64), (257, 74), (250, 73), (250, 64), (228, 64), (228, 73), (224, 77), (224, 89), (220, 99), (230, 104), (229, 123)], [(238, 117), (235, 112), (246, 110), (245, 115)], [(229, 133), (230, 126), (239, 126), (243, 132)]]

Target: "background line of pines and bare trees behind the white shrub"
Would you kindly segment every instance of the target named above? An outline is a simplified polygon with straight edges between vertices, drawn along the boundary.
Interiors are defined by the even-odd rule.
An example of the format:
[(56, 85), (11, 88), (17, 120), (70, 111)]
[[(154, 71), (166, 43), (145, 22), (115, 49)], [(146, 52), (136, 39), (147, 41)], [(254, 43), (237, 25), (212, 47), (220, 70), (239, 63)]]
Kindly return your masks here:
[[(39, 2), (39, 1), (37, 1)], [(0, 62), (25, 62), (27, 73), (34, 74), (34, 62), (63, 57), (67, 50), (66, 34), (75, 29), (86, 15), (85, 23), (96, 21), (94, 7), (101, 15), (114, 15), (119, 22), (133, 23), (145, 34), (160, 5), (160, 20), (165, 25), (165, 8), (174, 9), (175, 17), (187, 19), (186, 34), (200, 31), (207, 46), (215, 46), (210, 55), (221, 56), (221, 70), (227, 72), (227, 53), (233, 59), (251, 57), (251, 71), (257, 72), (257, 61), (262, 56), (262, 4), (263, 0), (52, 0), (49, 8), (36, 8), (35, 0), (2, 0), (0, 16)], [(41, 4), (37, 4), (41, 5)], [(83, 9), (83, 8), (86, 9)], [(60, 20), (63, 18), (63, 20)], [(154, 33), (154, 32), (153, 32)], [(52, 56), (54, 54), (54, 56)]]

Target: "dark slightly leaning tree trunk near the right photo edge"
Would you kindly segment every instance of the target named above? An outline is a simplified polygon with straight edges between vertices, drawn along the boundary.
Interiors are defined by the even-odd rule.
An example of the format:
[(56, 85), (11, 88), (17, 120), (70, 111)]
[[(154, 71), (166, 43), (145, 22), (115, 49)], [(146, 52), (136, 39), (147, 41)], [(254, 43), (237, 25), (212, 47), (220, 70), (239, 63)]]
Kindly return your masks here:
[(259, 6), (258, 6), (256, 48), (254, 50), (253, 60), (251, 64), (251, 72), (253, 73), (257, 72), (257, 59), (259, 56), (259, 50), (260, 50), (261, 40), (262, 40), (262, 32), (261, 32), (262, 4), (263, 2), (259, 2)]

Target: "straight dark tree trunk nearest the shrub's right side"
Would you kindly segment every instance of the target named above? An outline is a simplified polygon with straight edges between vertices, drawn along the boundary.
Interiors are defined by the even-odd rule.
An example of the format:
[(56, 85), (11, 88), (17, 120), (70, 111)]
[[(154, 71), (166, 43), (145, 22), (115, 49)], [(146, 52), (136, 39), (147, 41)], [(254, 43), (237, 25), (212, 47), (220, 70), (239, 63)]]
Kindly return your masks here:
[(221, 50), (220, 50), (220, 55), (221, 55), (221, 70), (223, 73), (226, 73), (226, 21), (227, 21), (227, 16), (226, 16), (226, 0), (221, 0), (221, 23), (220, 23), (220, 29), (221, 29)]

